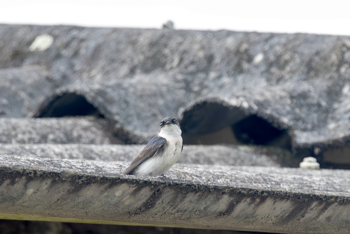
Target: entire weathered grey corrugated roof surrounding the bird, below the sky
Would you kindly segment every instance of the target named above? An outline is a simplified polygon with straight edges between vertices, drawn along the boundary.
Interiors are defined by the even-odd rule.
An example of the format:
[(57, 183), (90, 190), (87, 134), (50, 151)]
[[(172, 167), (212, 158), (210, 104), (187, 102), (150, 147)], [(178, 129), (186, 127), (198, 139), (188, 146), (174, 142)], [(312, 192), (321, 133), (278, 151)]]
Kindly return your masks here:
[[(348, 171), (279, 167), (349, 168), (350, 37), (0, 25), (0, 45), (0, 154), (22, 155), (0, 156), (0, 218), (350, 229)], [(94, 117), (28, 118), (72, 115)], [(109, 144), (145, 144), (167, 116), (185, 142), (173, 184), (120, 175), (142, 146)], [(269, 147), (186, 145), (242, 143)]]

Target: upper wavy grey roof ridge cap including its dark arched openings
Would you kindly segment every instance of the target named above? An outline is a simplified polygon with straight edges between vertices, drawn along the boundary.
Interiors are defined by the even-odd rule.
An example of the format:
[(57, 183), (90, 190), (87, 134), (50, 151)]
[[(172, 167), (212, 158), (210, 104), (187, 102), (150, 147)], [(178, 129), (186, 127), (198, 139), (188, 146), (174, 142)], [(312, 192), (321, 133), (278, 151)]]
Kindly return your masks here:
[[(47, 49), (29, 49), (46, 34)], [(348, 36), (0, 25), (0, 42), (3, 117), (82, 114), (87, 101), (124, 143), (147, 143), (174, 116), (188, 143), (238, 124), (231, 138), (291, 147), (300, 159), (342, 163), (348, 152)], [(261, 142), (274, 130), (259, 125), (237, 132), (251, 116), (284, 140)]]

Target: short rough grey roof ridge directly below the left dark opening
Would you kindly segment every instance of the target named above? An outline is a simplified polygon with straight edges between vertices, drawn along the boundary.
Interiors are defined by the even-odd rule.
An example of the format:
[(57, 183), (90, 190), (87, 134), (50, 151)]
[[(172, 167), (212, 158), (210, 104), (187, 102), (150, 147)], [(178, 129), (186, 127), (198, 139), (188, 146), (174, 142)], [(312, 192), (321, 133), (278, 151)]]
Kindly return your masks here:
[(104, 122), (88, 118), (0, 118), (0, 143), (110, 144)]

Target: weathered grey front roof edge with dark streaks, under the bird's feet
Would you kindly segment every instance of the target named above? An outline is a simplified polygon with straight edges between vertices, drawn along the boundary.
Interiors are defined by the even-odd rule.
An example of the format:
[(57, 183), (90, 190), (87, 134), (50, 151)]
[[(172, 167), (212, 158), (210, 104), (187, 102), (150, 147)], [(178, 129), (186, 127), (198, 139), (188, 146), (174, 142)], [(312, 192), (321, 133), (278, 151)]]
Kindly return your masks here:
[(163, 178), (127, 164), (0, 156), (0, 218), (13, 214), (276, 233), (346, 233), (350, 172), (176, 165)]

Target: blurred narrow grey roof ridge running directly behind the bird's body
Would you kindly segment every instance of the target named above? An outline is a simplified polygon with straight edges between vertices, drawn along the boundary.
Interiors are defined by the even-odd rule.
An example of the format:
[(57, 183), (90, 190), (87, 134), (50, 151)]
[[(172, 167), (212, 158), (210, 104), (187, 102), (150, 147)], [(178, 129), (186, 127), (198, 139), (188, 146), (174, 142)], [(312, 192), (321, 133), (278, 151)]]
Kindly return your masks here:
[[(94, 144), (0, 144), (0, 154), (60, 159), (131, 162), (145, 145)], [(290, 163), (279, 154), (261, 152), (259, 147), (225, 145), (184, 145), (178, 163), (273, 166)], [(287, 154), (288, 152), (285, 152)], [(299, 163), (299, 161), (297, 162)]]

